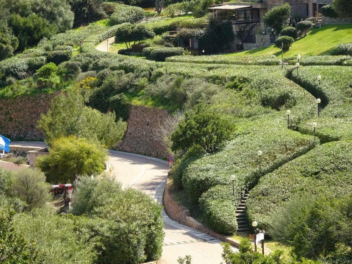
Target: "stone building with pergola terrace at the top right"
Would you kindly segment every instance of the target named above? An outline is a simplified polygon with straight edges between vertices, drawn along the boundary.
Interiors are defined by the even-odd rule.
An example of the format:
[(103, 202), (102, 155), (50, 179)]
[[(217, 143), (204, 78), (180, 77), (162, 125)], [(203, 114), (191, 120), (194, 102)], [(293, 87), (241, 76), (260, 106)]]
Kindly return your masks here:
[(230, 20), (235, 34), (233, 49), (250, 50), (275, 43), (280, 32), (265, 27), (263, 17), (275, 6), (285, 3), (291, 6), (291, 18), (304, 20), (315, 17), (321, 7), (333, 0), (244, 0), (243, 2), (224, 2), (209, 8), (218, 20)]

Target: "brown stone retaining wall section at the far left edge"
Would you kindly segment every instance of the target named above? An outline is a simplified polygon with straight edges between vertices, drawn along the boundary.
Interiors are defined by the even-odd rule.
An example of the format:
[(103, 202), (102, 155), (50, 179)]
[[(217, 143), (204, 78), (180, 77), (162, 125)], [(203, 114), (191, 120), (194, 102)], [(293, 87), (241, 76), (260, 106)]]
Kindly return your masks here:
[(46, 113), (51, 100), (58, 95), (40, 94), (0, 100), (0, 134), (14, 140), (41, 140), (36, 128), (41, 113)]

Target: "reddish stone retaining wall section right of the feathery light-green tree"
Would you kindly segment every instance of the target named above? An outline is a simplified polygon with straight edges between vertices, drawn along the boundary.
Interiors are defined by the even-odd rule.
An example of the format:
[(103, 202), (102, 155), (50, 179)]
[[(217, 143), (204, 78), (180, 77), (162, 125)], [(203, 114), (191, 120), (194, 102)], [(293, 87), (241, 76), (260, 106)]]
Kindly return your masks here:
[(125, 136), (116, 149), (157, 158), (167, 157), (165, 145), (154, 136), (155, 130), (169, 114), (162, 109), (132, 106)]

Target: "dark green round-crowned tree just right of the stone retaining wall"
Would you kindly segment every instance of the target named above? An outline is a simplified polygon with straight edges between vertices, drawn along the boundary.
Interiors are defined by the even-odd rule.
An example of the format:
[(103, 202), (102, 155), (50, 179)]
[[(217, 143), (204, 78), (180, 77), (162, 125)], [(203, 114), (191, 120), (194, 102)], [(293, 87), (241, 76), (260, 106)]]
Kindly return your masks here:
[(171, 134), (172, 151), (193, 147), (200, 153), (212, 153), (230, 139), (234, 125), (218, 109), (200, 103), (185, 113), (177, 130)]

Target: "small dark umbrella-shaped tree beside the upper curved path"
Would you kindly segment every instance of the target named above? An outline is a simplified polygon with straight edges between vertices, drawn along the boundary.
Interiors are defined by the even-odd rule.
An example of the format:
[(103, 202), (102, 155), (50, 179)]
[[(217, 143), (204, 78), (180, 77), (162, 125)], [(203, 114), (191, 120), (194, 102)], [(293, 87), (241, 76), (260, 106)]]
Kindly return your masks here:
[(134, 44), (148, 38), (154, 38), (155, 33), (144, 24), (122, 24), (115, 34), (115, 42), (124, 42), (129, 51)]

